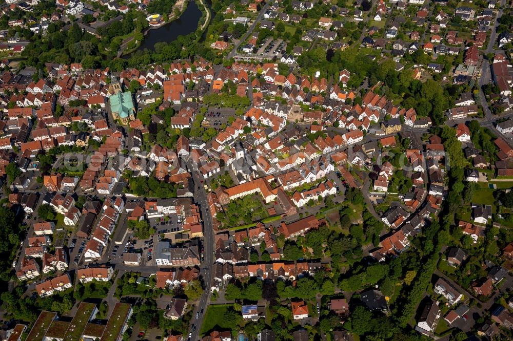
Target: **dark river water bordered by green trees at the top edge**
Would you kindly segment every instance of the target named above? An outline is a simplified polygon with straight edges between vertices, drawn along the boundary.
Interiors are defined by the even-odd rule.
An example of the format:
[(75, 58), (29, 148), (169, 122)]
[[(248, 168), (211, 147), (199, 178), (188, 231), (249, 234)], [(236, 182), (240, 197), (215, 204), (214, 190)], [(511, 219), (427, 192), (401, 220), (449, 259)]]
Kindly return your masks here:
[(154, 51), (157, 42), (171, 42), (179, 35), (187, 35), (196, 31), (201, 15), (202, 13), (198, 5), (194, 1), (189, 0), (187, 8), (179, 18), (159, 28), (148, 30), (141, 42), (141, 46), (136, 51), (143, 51), (144, 49)]

